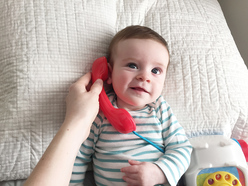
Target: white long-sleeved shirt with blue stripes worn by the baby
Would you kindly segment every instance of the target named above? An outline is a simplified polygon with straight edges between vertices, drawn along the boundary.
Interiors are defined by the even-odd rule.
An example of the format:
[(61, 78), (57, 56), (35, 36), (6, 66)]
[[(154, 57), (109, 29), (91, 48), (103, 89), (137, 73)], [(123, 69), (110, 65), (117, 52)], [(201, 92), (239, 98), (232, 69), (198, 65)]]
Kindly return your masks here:
[[(115, 94), (108, 96), (116, 107)], [(171, 186), (177, 184), (189, 166), (192, 146), (168, 103), (160, 96), (145, 108), (129, 113), (136, 123), (136, 132), (156, 143), (165, 153), (132, 132), (119, 133), (100, 112), (93, 122), (88, 139), (79, 149), (70, 185), (83, 185), (91, 160), (97, 185), (127, 185), (120, 169), (129, 166), (129, 159), (155, 163)]]

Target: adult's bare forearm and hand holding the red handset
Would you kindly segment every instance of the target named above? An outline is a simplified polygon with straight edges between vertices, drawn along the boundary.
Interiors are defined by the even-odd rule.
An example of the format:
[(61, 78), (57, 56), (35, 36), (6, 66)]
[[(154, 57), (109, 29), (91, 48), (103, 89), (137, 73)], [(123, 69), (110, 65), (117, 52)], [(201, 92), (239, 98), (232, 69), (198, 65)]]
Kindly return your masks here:
[(24, 186), (68, 186), (78, 149), (99, 110), (103, 82), (97, 80), (91, 86), (90, 79), (87, 73), (70, 87), (65, 121)]

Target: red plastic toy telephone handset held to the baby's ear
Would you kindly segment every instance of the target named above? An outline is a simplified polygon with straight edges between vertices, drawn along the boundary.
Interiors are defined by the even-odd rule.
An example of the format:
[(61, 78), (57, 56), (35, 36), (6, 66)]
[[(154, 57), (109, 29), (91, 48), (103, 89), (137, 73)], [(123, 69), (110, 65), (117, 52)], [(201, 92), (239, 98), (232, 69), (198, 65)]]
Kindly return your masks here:
[[(92, 66), (92, 81), (97, 79), (106, 81), (108, 79), (108, 63), (105, 57), (96, 59)], [(114, 108), (110, 103), (104, 88), (99, 95), (100, 109), (103, 114), (120, 133), (130, 133), (136, 130), (135, 122), (132, 116), (125, 109)]]

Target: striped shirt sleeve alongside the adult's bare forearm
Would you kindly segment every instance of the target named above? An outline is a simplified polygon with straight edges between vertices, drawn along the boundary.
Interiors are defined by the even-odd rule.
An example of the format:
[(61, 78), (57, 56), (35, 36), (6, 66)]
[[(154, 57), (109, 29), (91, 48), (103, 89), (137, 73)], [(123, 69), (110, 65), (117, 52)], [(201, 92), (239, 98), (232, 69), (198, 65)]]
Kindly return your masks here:
[(70, 186), (83, 185), (85, 173), (88, 168), (89, 162), (92, 160), (92, 155), (95, 152), (95, 143), (99, 133), (99, 123), (102, 118), (98, 115), (93, 122), (88, 138), (82, 143), (72, 170)]

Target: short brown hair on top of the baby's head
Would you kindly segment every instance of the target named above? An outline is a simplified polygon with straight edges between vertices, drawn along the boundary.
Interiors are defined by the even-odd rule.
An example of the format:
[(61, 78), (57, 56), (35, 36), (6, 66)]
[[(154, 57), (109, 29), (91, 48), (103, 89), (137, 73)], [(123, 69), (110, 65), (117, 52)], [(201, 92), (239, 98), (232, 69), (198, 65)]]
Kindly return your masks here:
[(119, 41), (125, 39), (152, 39), (164, 45), (169, 53), (168, 43), (161, 35), (159, 35), (154, 30), (146, 26), (140, 26), (140, 25), (128, 26), (123, 30), (117, 32), (117, 34), (113, 37), (112, 41), (110, 42), (107, 53), (107, 60), (111, 65), (113, 65), (113, 61), (112, 61), (113, 48)]

